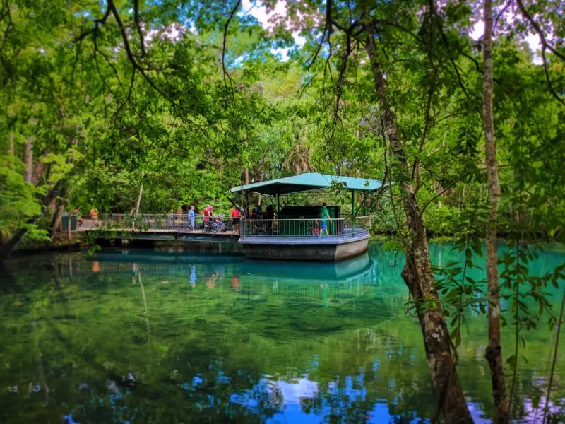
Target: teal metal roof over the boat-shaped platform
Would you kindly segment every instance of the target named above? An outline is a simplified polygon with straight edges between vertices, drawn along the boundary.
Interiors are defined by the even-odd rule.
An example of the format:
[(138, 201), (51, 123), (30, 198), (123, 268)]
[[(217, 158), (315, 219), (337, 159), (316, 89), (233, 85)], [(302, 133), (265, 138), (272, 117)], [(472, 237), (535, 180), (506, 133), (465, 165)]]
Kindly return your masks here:
[(275, 196), (277, 194), (309, 192), (310, 190), (328, 189), (335, 184), (341, 184), (344, 189), (358, 190), (362, 192), (373, 192), (382, 187), (382, 182), (378, 179), (339, 177), (338, 175), (326, 175), (316, 172), (295, 175), (269, 181), (255, 182), (232, 187), (230, 192), (237, 193), (250, 191), (254, 193)]

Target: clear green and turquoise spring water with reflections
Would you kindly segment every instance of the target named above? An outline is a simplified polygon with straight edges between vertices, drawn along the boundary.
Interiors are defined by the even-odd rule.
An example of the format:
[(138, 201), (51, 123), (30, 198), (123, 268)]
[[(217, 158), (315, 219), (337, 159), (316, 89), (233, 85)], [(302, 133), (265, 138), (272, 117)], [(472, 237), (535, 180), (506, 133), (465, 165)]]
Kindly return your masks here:
[[(0, 423), (412, 423), (434, 415), (420, 326), (405, 314), (403, 258), (393, 267), (377, 244), (340, 264), (246, 261), (233, 245), (199, 250), (8, 263)], [(449, 245), (432, 245), (432, 255), (440, 265), (459, 258)], [(532, 269), (562, 261), (546, 252)], [(559, 290), (549, 291), (557, 306)], [(477, 422), (492, 411), (486, 333), (484, 317), (469, 314), (458, 372)], [(518, 409), (535, 422), (554, 334), (544, 324), (525, 339)], [(504, 343), (509, 353), (511, 331)], [(565, 399), (565, 348), (557, 370), (557, 399)]]

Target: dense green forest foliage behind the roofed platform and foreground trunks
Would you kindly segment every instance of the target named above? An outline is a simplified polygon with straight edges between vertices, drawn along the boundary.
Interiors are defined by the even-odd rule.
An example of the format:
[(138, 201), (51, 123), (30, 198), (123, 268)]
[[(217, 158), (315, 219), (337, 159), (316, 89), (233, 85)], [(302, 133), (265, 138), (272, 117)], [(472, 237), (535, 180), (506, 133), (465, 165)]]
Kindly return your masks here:
[[(238, 8), (224, 33), (235, 4), (210, 3), (203, 13), (197, 6), (133, 11), (117, 3), (115, 15), (113, 4), (3, 9), (4, 240), (18, 228), (47, 237), (37, 216), (57, 199), (66, 209), (129, 212), (141, 184), (140, 211), (159, 213), (208, 202), (227, 207), (226, 189), (244, 182), (246, 169), (251, 182), (314, 170), (390, 179), (359, 41), (347, 47), (343, 35), (333, 35), (319, 44), (316, 31), (304, 30), (306, 44), (287, 61), (273, 50), (292, 42), (284, 28), (315, 27), (307, 20), (314, 6), (293, 6), (293, 13), (303, 7), (305, 21), (292, 13), (280, 17), (274, 33)], [(335, 16), (345, 13), (335, 7)], [(383, 20), (381, 37), (390, 33), (382, 46), (389, 90), (420, 175), (427, 228), (453, 235), (461, 232), (465, 211), (486, 199), (482, 73), (480, 49), (468, 35), (470, 9), (453, 4), (438, 13), (446, 23), (436, 45), (427, 45), (426, 18), (409, 10)], [(405, 26), (398, 30), (394, 19)], [(551, 90), (561, 92), (564, 65), (550, 61), (550, 89), (545, 69), (518, 41), (523, 28), (505, 28), (494, 49), (500, 231), (525, 220), (539, 235), (560, 235), (564, 108)], [(347, 48), (357, 49), (349, 61)], [(378, 230), (398, 229), (394, 191), (369, 201)]]

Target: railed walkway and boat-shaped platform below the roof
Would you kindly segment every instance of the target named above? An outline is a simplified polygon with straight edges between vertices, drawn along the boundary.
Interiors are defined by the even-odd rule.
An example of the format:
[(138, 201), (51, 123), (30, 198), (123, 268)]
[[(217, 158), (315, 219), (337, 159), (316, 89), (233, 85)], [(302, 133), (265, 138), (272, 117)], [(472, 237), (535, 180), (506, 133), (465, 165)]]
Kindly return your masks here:
[[(327, 225), (329, 236), (321, 236), (322, 224)], [(196, 228), (193, 230), (191, 225)], [(349, 257), (364, 252), (370, 237), (366, 225), (343, 218), (329, 223), (318, 218), (241, 220), (238, 225), (223, 217), (220, 222), (204, 217), (189, 220), (186, 215), (106, 214), (98, 220), (81, 220), (77, 230), (93, 231), (97, 238), (105, 240), (239, 242), (246, 253), (253, 249), (264, 256), (263, 250), (269, 249), (265, 252), (272, 257), (282, 252), (283, 259)]]

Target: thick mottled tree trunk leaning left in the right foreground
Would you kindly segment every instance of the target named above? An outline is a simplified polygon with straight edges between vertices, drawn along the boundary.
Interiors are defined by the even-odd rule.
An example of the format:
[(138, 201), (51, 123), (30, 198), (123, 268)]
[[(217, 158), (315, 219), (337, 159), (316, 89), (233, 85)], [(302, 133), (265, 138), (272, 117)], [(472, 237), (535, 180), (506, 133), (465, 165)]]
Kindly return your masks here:
[(435, 278), (429, 260), (424, 220), (417, 204), (415, 186), (410, 181), (410, 170), (396, 129), (394, 112), (388, 104), (386, 80), (376, 57), (374, 29), (369, 16), (365, 17), (364, 30), (367, 32), (366, 49), (371, 63), (379, 109), (388, 135), (391, 154), (395, 159), (392, 166), (396, 175), (403, 181), (401, 184), (402, 201), (410, 235), (402, 276), (418, 306), (417, 314), (424, 336), (427, 360), (439, 396), (439, 408), (441, 408), (446, 423), (472, 423), (465, 395), (458, 382), (456, 363), (451, 351), (453, 345), (444, 313), (440, 306), (425, 309), (420, 307), (424, 299), (436, 301), (434, 303), (439, 305), (439, 295), (434, 285)]

